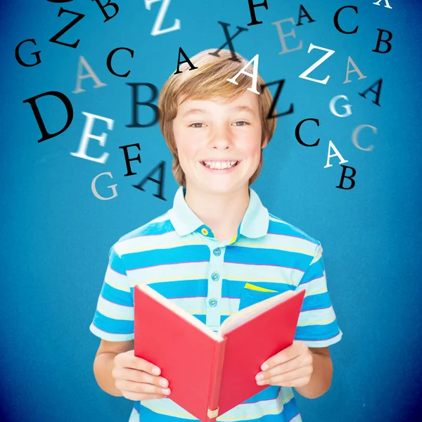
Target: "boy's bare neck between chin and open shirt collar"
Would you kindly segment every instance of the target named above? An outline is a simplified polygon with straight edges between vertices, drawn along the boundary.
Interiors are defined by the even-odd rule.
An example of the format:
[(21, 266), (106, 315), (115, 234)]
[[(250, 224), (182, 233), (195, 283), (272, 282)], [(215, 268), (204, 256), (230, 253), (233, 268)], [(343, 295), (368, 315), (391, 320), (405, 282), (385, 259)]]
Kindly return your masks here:
[(226, 241), (237, 234), (238, 226), (249, 205), (249, 186), (226, 195), (200, 191), (186, 184), (185, 201), (219, 241)]

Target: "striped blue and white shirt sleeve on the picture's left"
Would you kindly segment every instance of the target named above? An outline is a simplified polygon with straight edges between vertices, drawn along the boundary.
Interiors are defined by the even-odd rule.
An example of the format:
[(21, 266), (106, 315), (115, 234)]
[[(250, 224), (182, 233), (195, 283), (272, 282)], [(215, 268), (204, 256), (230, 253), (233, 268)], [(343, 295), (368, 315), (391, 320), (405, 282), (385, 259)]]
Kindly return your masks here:
[(134, 339), (134, 301), (122, 258), (115, 245), (108, 253), (108, 266), (98, 297), (91, 333), (108, 341)]

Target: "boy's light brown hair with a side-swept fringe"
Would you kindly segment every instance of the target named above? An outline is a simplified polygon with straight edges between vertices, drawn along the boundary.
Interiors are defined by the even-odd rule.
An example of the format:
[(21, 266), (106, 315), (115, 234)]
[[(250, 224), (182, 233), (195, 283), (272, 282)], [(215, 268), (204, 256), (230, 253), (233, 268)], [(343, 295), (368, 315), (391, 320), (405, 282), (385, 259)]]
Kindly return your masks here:
[[(236, 54), (238, 61), (233, 60), (230, 50), (220, 50), (219, 57), (210, 54), (213, 52), (215, 52), (215, 49), (201, 51), (189, 59), (198, 69), (190, 70), (191, 66), (188, 63), (181, 64), (179, 67), (181, 73), (173, 74), (167, 79), (158, 97), (158, 122), (162, 135), (173, 155), (172, 173), (180, 186), (186, 186), (186, 178), (184, 171), (181, 169), (173, 134), (173, 120), (177, 116), (178, 101), (181, 97), (184, 97), (183, 101), (186, 99), (207, 100), (215, 97), (234, 100), (251, 87), (251, 77), (243, 73), (236, 78), (237, 85), (226, 80), (237, 75), (248, 63), (248, 60), (238, 54)], [(246, 72), (251, 74), (252, 70), (252, 65), (245, 69)], [(258, 103), (262, 124), (261, 146), (266, 138), (268, 142), (271, 140), (276, 129), (276, 118), (267, 119), (273, 98), (269, 89), (260, 89), (262, 84), (265, 84), (265, 82), (258, 75), (257, 90), (260, 91)], [(274, 113), (276, 113), (275, 110)], [(261, 172), (264, 160), (262, 153), (263, 150), (261, 149), (260, 164), (250, 177), (249, 185), (257, 179)]]

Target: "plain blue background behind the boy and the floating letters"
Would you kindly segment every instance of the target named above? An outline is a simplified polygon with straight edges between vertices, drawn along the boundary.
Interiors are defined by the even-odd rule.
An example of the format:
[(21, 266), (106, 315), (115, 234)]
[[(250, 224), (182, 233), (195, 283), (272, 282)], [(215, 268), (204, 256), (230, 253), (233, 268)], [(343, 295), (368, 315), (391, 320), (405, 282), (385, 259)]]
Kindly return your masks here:
[[(132, 122), (132, 89), (126, 83), (148, 82), (160, 89), (176, 68), (179, 46), (192, 57), (225, 42), (220, 20), (231, 24), (231, 34), (236, 26), (248, 28), (234, 39), (234, 47), (248, 60), (260, 54), (259, 72), (267, 83), (286, 79), (277, 110), (281, 113), (294, 103), (294, 113), (279, 119), (252, 187), (272, 214), (321, 241), (328, 290), (343, 331), (340, 343), (330, 347), (331, 389), (314, 400), (296, 395), (303, 421), (421, 421), (421, 4), (391, 0), (389, 9), (384, 1), (382, 6), (354, 1), (359, 14), (343, 11), (340, 25), (345, 30), (359, 25), (359, 30), (346, 35), (335, 30), (333, 15), (348, 2), (305, 0), (303, 6), (316, 22), (304, 18), (304, 25), (295, 27), (296, 39), (286, 38), (289, 49), (300, 39), (303, 48), (280, 55), (271, 23), (291, 17), (297, 22), (299, 1), (268, 0), (268, 11), (256, 9), (262, 25), (248, 27), (246, 0), (172, 0), (163, 27), (179, 18), (181, 30), (155, 37), (150, 33), (160, 3), (147, 11), (143, 1), (117, 1), (120, 11), (106, 23), (93, 1), (7, 3), (0, 46), (2, 420), (127, 421), (132, 402), (96, 385), (92, 365), (99, 339), (89, 324), (110, 246), (172, 207), (178, 186), (158, 124), (125, 126)], [(60, 39), (80, 39), (77, 49), (49, 42), (74, 18), (66, 13), (58, 18), (60, 6), (86, 15)], [(285, 33), (291, 28), (283, 24)], [(377, 28), (392, 32), (390, 53), (371, 51)], [(23, 46), (24, 60), (34, 60), (30, 53), (41, 50), (42, 63), (33, 68), (23, 68), (14, 57), (15, 46), (28, 38), (35, 38), (37, 46)], [(331, 75), (326, 85), (298, 77), (322, 56), (318, 50), (307, 53), (311, 42), (335, 50), (310, 75)], [(127, 78), (111, 75), (106, 67), (108, 53), (120, 46), (134, 49), (134, 58), (120, 51), (113, 60), (117, 72), (132, 70)], [(106, 87), (94, 89), (93, 80), (84, 79), (86, 91), (72, 94), (79, 56)], [(352, 82), (343, 84), (348, 56), (366, 79), (358, 80), (354, 72)], [(364, 99), (358, 93), (380, 77), (378, 107), (373, 94)], [(270, 87), (273, 94), (275, 88)], [(37, 143), (37, 122), (23, 100), (51, 90), (70, 98), (75, 117), (66, 132)], [(140, 99), (150, 95), (139, 93)], [(328, 109), (331, 98), (340, 94), (352, 104), (353, 114), (346, 118)], [(39, 105), (46, 127), (60, 129), (65, 122), (62, 105), (54, 98)], [(105, 164), (70, 155), (79, 148), (82, 112), (115, 120), (113, 131), (101, 120), (94, 124), (94, 134), (108, 134), (105, 147), (89, 142), (89, 155), (110, 154)], [(148, 122), (151, 110), (141, 106), (139, 116)], [(321, 139), (313, 148), (295, 139), (296, 125), (308, 117), (320, 120), (319, 127), (312, 122), (302, 127), (305, 141)], [(359, 136), (364, 148), (374, 145), (373, 151), (352, 143), (352, 132), (360, 124), (378, 128), (378, 134), (366, 128)], [(342, 172), (338, 158), (324, 168), (330, 140), (348, 160), (346, 165), (357, 171), (351, 190), (335, 188)], [(142, 162), (132, 162), (135, 176), (123, 177), (127, 171), (118, 147), (130, 143), (140, 144)], [(136, 150), (129, 151), (133, 156)], [(161, 160), (166, 162), (165, 201), (153, 196), (157, 185), (151, 182), (145, 192), (132, 187)], [(92, 179), (102, 172), (112, 172), (113, 180), (98, 179), (98, 192), (111, 196), (106, 186), (117, 183), (113, 200), (99, 200), (91, 192)]]

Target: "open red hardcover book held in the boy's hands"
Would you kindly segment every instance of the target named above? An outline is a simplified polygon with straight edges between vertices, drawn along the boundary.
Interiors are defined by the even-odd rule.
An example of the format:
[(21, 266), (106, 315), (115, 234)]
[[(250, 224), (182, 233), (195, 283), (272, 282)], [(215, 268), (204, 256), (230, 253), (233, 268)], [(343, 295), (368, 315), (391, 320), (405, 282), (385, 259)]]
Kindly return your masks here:
[(134, 354), (161, 369), (169, 398), (202, 422), (268, 385), (255, 376), (293, 343), (305, 290), (288, 290), (241, 309), (216, 333), (147, 285), (134, 290)]

